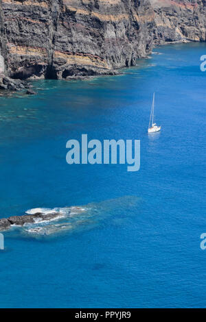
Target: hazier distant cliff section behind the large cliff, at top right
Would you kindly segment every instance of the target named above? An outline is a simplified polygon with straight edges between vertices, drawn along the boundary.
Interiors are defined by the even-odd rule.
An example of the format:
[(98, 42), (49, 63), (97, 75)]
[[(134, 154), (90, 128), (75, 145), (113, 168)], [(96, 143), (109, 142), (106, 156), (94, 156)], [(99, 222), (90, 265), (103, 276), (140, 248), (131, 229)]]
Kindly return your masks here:
[(206, 0), (150, 0), (155, 10), (154, 42), (206, 40)]

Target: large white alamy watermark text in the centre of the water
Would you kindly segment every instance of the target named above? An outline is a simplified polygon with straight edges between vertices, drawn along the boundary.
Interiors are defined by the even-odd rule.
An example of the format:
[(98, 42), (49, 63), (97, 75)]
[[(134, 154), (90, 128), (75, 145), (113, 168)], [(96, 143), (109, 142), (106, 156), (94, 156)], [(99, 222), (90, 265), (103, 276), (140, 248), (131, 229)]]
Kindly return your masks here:
[(81, 143), (69, 140), (68, 164), (127, 164), (128, 172), (140, 169), (140, 140), (90, 140), (82, 134)]

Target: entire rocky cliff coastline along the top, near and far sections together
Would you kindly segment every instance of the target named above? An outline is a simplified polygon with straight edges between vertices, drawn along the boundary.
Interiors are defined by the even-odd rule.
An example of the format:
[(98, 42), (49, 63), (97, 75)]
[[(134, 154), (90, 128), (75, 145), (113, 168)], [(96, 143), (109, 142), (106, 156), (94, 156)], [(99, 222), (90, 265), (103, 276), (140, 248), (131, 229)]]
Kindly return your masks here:
[(155, 45), (205, 40), (203, 0), (0, 0), (0, 90), (116, 75)]

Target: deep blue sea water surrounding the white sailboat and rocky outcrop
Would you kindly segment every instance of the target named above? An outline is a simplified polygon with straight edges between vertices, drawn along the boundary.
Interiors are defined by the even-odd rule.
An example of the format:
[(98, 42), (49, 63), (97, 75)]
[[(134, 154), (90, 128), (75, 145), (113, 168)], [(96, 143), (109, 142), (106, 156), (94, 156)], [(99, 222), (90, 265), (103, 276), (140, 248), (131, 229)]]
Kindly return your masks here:
[[(206, 307), (206, 45), (155, 51), (123, 75), (1, 97), (0, 217), (87, 208), (58, 234), (4, 234), (1, 308)], [(154, 91), (162, 131), (148, 136)], [(140, 171), (68, 165), (81, 134), (141, 140)]]

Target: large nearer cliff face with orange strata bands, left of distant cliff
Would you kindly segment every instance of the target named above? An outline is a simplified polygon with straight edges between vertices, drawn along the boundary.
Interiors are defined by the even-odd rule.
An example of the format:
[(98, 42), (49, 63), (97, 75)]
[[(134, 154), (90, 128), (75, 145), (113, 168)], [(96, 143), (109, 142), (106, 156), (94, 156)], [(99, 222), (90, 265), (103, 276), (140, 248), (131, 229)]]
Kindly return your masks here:
[(1, 0), (8, 75), (67, 78), (113, 73), (152, 48), (148, 0)]

